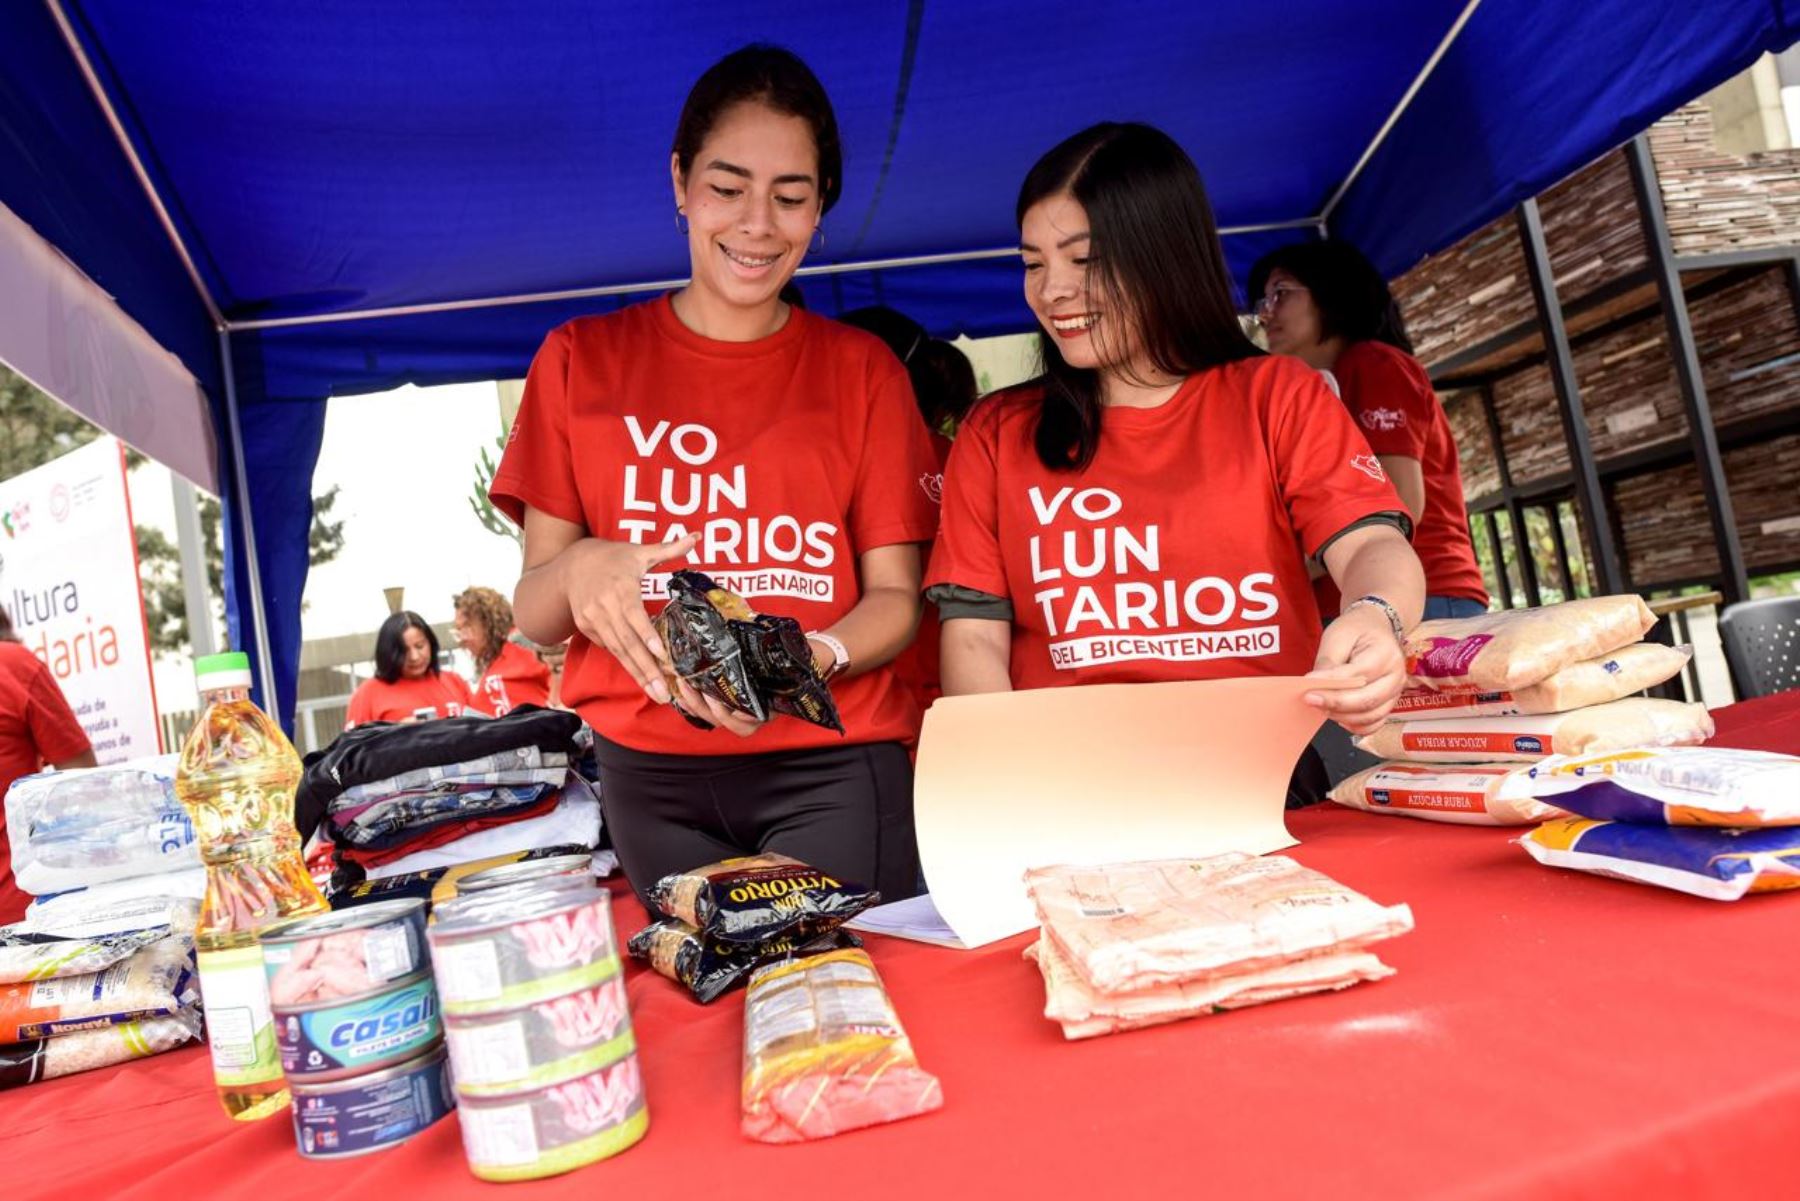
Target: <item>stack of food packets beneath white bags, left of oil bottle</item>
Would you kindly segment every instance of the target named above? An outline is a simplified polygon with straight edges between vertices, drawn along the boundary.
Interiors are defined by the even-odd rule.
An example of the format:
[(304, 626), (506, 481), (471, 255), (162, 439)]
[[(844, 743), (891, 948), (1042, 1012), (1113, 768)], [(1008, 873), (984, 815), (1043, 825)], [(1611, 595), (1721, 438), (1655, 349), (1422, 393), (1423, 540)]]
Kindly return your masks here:
[(0, 927), (0, 1089), (175, 1050), (200, 1035), (193, 927)]

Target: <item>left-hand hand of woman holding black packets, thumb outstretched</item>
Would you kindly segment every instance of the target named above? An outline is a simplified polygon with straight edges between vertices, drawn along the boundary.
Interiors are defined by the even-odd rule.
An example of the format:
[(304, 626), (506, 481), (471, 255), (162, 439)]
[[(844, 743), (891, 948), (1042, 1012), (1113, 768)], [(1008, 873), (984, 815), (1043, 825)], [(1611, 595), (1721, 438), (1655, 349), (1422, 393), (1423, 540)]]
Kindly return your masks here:
[[(581, 538), (558, 556), (558, 574), (569, 598), (574, 628), (596, 646), (605, 646), (625, 664), (644, 695), (657, 704), (673, 700), (664, 666), (668, 648), (650, 625), (644, 609), (643, 578), (657, 564), (688, 555), (700, 535), (688, 535), (661, 546)], [(698, 711), (706, 717), (704, 711)]]

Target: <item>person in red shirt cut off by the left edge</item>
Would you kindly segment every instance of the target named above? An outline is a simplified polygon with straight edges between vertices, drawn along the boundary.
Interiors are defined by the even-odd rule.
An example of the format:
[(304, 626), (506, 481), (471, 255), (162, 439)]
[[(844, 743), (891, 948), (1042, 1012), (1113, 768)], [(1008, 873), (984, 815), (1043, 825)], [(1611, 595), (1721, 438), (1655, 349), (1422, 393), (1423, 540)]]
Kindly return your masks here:
[[(94, 745), (50, 668), (18, 641), (13, 616), (0, 607), (0, 798), (14, 780), (47, 765), (94, 767)], [(0, 805), (0, 926), (25, 917), (29, 902), (13, 882), (13, 846)]]

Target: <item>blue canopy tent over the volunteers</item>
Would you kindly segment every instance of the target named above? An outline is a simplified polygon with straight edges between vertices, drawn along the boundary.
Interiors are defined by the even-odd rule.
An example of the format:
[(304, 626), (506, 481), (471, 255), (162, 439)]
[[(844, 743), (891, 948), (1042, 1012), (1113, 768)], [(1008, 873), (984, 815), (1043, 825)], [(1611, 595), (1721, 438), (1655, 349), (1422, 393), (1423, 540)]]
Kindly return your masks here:
[(729, 49), (839, 110), (808, 303), (986, 335), (1030, 324), (1019, 180), (1094, 121), (1190, 149), (1238, 272), (1328, 229), (1395, 274), (1796, 38), (1800, 0), (18, 0), (0, 203), (205, 385), (232, 639), (286, 718), (326, 398), (518, 376), (677, 284), (670, 139)]

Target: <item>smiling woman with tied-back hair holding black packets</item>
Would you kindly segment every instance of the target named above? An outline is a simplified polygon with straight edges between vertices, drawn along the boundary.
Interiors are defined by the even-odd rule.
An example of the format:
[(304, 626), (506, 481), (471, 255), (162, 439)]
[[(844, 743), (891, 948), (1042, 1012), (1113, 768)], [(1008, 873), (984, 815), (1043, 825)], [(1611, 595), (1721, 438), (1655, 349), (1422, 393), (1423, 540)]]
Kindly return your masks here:
[[(490, 488), (524, 528), (513, 614), (571, 639), (563, 702), (594, 727), (639, 895), (778, 852), (900, 900), (920, 718), (891, 661), (918, 625), (936, 466), (887, 348), (781, 299), (844, 178), (819, 79), (776, 47), (725, 56), (682, 106), (670, 176), (689, 283), (553, 330), (531, 364)], [(675, 567), (797, 619), (846, 733), (756, 724), (673, 677), (646, 603)]]

